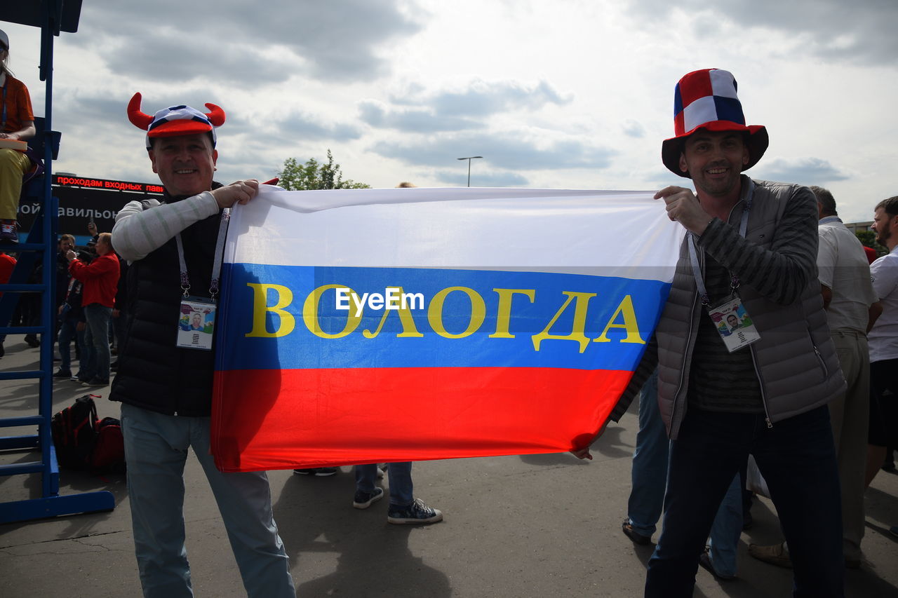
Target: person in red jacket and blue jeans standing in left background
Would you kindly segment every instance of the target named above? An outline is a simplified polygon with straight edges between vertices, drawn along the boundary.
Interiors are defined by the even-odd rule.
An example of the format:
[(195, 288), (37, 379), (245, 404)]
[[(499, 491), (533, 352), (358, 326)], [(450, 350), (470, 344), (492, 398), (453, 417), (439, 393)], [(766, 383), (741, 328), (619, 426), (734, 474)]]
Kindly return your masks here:
[(110, 383), (110, 316), (119, 287), (119, 258), (112, 251), (112, 235), (101, 233), (97, 239), (97, 257), (90, 264), (78, 259), (75, 251), (67, 251), (68, 270), (84, 283), (84, 317), (87, 330), (84, 345), (88, 355), (81, 356), (78, 381), (84, 386), (106, 386)]

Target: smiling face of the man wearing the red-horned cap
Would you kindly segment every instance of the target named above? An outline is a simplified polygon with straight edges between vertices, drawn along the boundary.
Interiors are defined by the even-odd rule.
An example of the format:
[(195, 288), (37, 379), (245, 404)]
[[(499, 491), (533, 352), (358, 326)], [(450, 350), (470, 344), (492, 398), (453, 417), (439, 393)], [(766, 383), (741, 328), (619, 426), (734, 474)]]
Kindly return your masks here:
[(197, 195), (212, 189), (218, 152), (206, 133), (156, 137), (149, 154), (153, 171), (171, 195)]

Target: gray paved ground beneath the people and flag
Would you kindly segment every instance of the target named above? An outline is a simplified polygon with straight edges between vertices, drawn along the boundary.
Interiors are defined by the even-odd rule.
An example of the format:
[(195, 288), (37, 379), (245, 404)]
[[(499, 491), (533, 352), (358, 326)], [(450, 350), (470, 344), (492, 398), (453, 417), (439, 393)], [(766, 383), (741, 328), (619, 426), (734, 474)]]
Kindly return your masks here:
[[(38, 349), (12, 335), (0, 369), (37, 369)], [(101, 417), (117, 416), (94, 390)], [(57, 409), (85, 389), (56, 383)], [(30, 414), (33, 383), (0, 385), (0, 416)], [(445, 513), (425, 527), (386, 523), (386, 503), (352, 508), (349, 468), (330, 478), (271, 471), (275, 514), (292, 558), (298, 595), (396, 598), (639, 596), (651, 547), (634, 546), (621, 533), (629, 492), (630, 456), (637, 418), (609, 427), (594, 447), (593, 462), (568, 454), (496, 457), (415, 465), (415, 494)], [(16, 430), (13, 430), (15, 433)], [(9, 435), (4, 432), (3, 435)], [(32, 461), (29, 453), (0, 454), (0, 462)], [(185, 474), (188, 550), (198, 596), (243, 595), (215, 501), (196, 459)], [(60, 494), (108, 489), (109, 513), (82, 514), (0, 525), (0, 595), (136, 596), (130, 512), (120, 476), (63, 473)], [(0, 502), (40, 496), (40, 476), (0, 478)], [(865, 560), (848, 571), (847, 595), (898, 596), (898, 476), (881, 473), (867, 492)], [(718, 582), (699, 570), (696, 596), (788, 596), (791, 573), (749, 557), (749, 542), (779, 540), (770, 502), (753, 508), (744, 532), (739, 579)]]

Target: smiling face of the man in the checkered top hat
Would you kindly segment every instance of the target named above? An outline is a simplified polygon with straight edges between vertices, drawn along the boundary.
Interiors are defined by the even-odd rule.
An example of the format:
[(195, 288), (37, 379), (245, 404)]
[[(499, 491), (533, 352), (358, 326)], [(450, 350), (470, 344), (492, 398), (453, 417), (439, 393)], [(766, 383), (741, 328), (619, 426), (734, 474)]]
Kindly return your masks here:
[(711, 197), (726, 197), (739, 189), (748, 162), (748, 147), (742, 133), (735, 131), (700, 129), (686, 139), (680, 154), (680, 170), (689, 172), (697, 191)]

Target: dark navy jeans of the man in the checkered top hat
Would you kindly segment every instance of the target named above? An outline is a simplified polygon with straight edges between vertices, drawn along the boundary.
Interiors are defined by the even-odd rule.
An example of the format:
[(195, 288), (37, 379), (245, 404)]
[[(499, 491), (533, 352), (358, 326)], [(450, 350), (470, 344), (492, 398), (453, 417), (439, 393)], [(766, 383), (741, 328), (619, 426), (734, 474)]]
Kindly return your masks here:
[(844, 595), (839, 472), (823, 406), (770, 428), (763, 415), (687, 413), (671, 443), (664, 529), (648, 561), (646, 596), (692, 595), (711, 522), (749, 453), (788, 541), (793, 595)]

